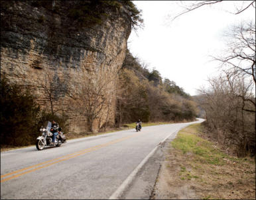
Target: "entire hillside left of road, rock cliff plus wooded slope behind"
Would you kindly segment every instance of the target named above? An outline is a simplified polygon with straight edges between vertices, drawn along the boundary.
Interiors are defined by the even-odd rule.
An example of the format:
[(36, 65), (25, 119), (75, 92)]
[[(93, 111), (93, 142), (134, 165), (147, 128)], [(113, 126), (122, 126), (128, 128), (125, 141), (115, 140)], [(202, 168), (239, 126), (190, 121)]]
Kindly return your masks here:
[(78, 134), (194, 120), (191, 96), (127, 50), (140, 12), (131, 1), (1, 1), (3, 143), (33, 143), (53, 119)]

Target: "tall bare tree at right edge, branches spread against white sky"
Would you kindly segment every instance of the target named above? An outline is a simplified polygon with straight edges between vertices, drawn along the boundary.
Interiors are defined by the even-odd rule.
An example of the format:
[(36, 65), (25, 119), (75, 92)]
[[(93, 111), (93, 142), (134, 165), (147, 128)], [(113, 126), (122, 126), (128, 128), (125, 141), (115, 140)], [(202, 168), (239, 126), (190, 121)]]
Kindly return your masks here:
[[(255, 22), (233, 26), (231, 32), (226, 36), (229, 38), (227, 40), (227, 50), (222, 56), (214, 57), (214, 59), (220, 61), (220, 66), (225, 69), (225, 76), (231, 88), (233, 86), (230, 80), (243, 77), (247, 79), (249, 86), (254, 86), (255, 89)], [(248, 98), (242, 90), (237, 92), (235, 95), (241, 98), (244, 103), (249, 102), (254, 106), (253, 110), (245, 107), (243, 107), (243, 110), (255, 112), (255, 101), (251, 97)]]

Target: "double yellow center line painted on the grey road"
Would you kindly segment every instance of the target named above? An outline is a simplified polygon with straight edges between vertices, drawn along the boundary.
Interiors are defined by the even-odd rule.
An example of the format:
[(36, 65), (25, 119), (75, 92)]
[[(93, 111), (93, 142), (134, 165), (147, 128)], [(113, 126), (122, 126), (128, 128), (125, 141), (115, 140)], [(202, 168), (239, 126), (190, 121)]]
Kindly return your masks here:
[[(121, 138), (121, 139), (116, 139), (116, 140), (110, 141), (110, 142), (105, 143), (105, 144), (102, 144), (102, 145), (97, 145), (97, 146), (95, 146), (95, 147), (90, 147), (90, 148), (88, 148), (88, 149), (80, 150), (80, 151), (78, 151), (78, 152), (74, 152), (74, 153), (68, 154), (68, 155), (66, 155), (66, 156), (61, 156), (61, 157), (59, 157), (59, 158), (54, 158), (54, 159), (52, 159), (52, 160), (48, 160), (48, 161), (42, 162), (42, 163), (40, 163), (40, 164), (35, 164), (35, 165), (29, 166), (29, 167), (27, 167), (27, 168), (23, 168), (23, 169), (21, 169), (21, 170), (17, 170), (17, 171), (15, 171), (15, 172), (11, 172), (11, 173), (8, 173), (8, 174), (4, 174), (4, 175), (1, 176), (1, 178), (4, 178), (4, 177), (6, 177), (6, 176), (10, 176), (10, 175), (12, 175), (12, 174), (17, 174), (17, 173), (19, 173), (19, 172), (23, 172), (23, 171), (25, 171), (25, 170), (29, 170), (29, 169), (34, 168), (34, 167), (36, 167), (36, 166), (40, 166), (40, 165), (42, 165), (42, 164), (45, 164), (45, 165), (43, 165), (43, 166), (40, 166), (40, 167), (38, 167), (38, 168), (34, 168), (34, 169), (32, 169), (32, 170), (23, 172), (23, 173), (21, 173), (21, 174), (17, 174), (17, 175), (15, 175), (15, 176), (11, 176), (11, 177), (9, 177), (9, 178), (5, 178), (5, 179), (1, 180), (1, 182), (6, 182), (7, 180), (11, 180), (11, 179), (13, 179), (13, 178), (17, 178), (17, 177), (22, 176), (22, 175), (24, 175), (24, 174), (28, 174), (28, 173), (30, 173), (30, 172), (34, 172), (34, 171), (40, 170), (40, 169), (42, 169), (42, 168), (46, 168), (47, 166), (51, 166), (52, 164), (56, 164), (56, 163), (62, 162), (62, 161), (64, 161), (64, 160), (68, 160), (68, 159), (70, 159), (70, 158), (75, 158), (75, 157), (77, 157), (77, 156), (80, 156), (80, 155), (82, 155), (82, 154), (85, 154), (86, 152), (91, 152), (91, 151), (93, 151), (93, 150), (101, 149), (101, 148), (103, 148), (103, 147), (107, 147), (107, 146), (109, 146), (109, 145), (112, 145), (112, 144), (115, 144), (115, 143), (119, 143), (119, 142), (121, 142), (121, 141), (124, 141), (125, 139), (129, 139), (129, 138), (131, 138), (131, 137), (135, 137), (136, 135), (137, 135), (137, 134), (130, 135), (130, 136), (128, 136), (128, 137), (123, 137), (123, 138)], [(63, 159), (61, 159), (61, 158), (63, 158)], [(57, 161), (52, 162), (52, 161), (54, 161), (54, 160), (57, 160)], [(46, 164), (46, 163), (48, 163), (48, 162), (52, 162), (52, 163)]]

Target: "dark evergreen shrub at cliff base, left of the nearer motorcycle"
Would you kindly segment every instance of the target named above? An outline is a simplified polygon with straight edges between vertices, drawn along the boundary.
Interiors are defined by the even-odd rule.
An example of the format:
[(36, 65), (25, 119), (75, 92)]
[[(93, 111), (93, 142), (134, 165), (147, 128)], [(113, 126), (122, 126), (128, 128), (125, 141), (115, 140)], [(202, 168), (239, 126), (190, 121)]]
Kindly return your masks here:
[(1, 77), (0, 138), (2, 145), (25, 146), (34, 143), (38, 133), (40, 106), (29, 90)]

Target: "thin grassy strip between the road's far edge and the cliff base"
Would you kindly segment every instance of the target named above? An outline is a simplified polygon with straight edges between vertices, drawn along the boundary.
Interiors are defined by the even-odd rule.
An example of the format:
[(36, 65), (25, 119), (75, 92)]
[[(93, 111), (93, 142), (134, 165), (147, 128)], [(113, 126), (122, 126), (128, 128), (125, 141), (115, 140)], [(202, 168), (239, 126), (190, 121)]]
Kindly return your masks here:
[[(143, 123), (143, 127), (151, 126), (151, 125), (162, 125), (162, 124), (168, 124), (168, 123), (171, 123), (171, 122), (148, 122), (148, 123)], [(121, 128), (108, 129), (107, 131), (98, 132), (98, 133), (68, 133), (68, 134), (66, 134), (66, 137), (68, 140), (78, 139), (78, 138), (83, 138), (83, 137), (92, 137), (92, 136), (96, 136), (96, 135), (103, 135), (106, 133), (113, 133), (113, 132), (121, 131), (121, 130), (125, 130), (125, 129), (135, 129), (135, 126), (136, 126), (135, 123), (125, 123), (123, 125), (123, 127), (121, 127)], [(33, 147), (33, 146), (34, 145), (29, 145), (29, 146), (25, 146), (25, 147), (1, 147), (1, 152), (7, 151), (7, 150), (13, 150), (13, 149)]]

